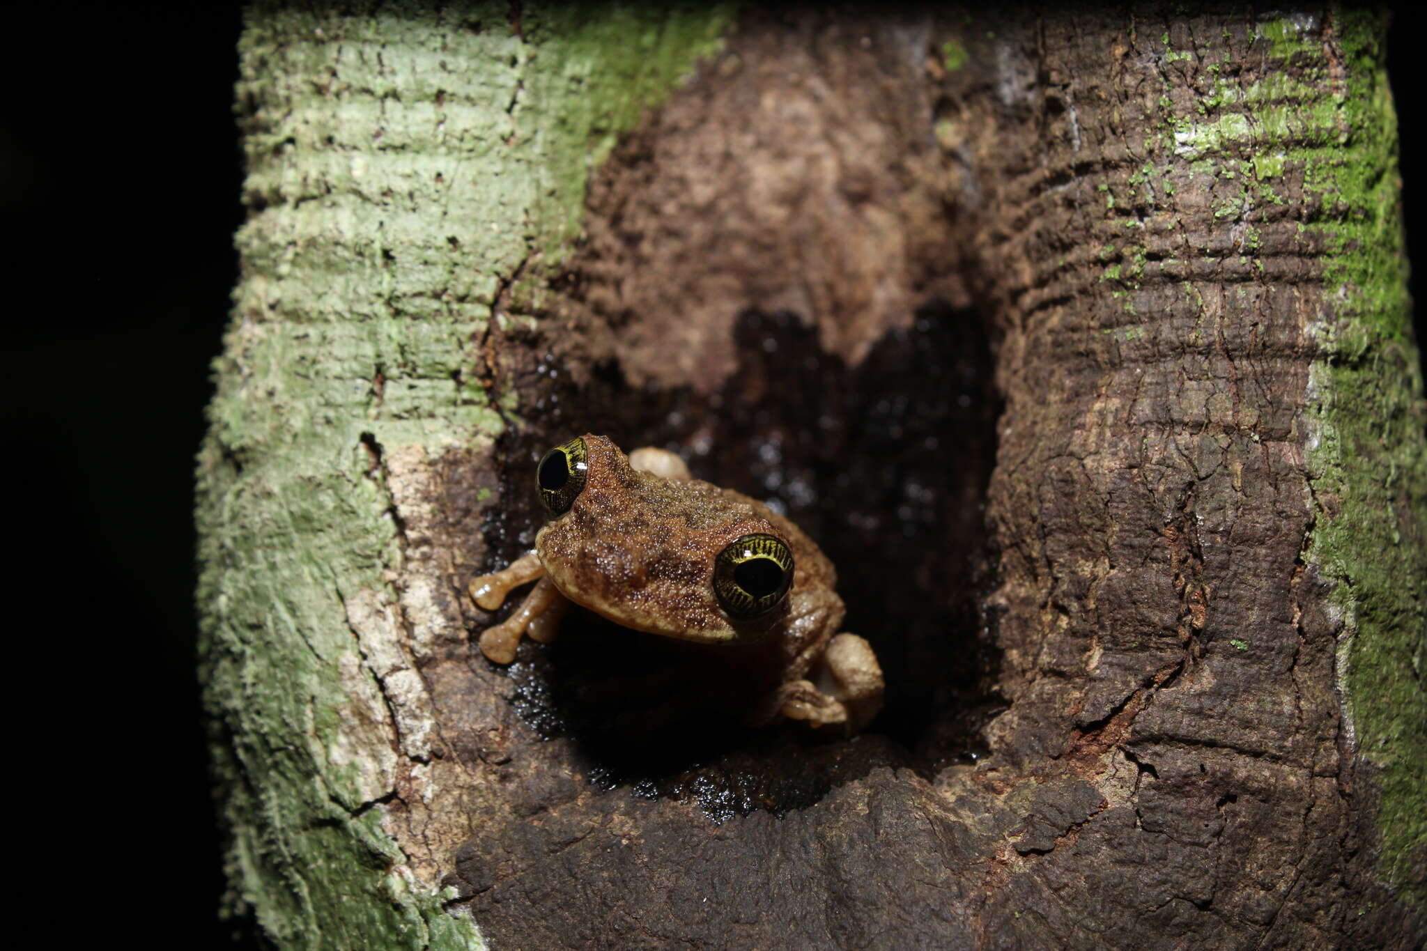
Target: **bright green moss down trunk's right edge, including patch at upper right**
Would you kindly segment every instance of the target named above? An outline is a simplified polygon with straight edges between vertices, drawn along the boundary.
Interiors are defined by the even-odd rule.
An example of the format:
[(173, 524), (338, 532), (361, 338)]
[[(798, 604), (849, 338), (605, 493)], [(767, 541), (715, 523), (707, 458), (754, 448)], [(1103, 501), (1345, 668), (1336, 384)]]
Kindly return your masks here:
[[(1304, 560), (1343, 620), (1346, 729), (1381, 791), (1378, 870), (1427, 907), (1427, 449), (1383, 36), (1374, 11), (1260, 21), (1213, 71), (1266, 60), (1277, 73), (1243, 88), (1222, 76), (1192, 108), (1172, 101), (1182, 90), (1164, 74), (1163, 123), (1146, 145), (1190, 160), (1223, 195), (1226, 224), (1284, 205), (1287, 181), (1301, 183), (1287, 204), (1307, 210), (1299, 240), (1323, 295), (1306, 328), (1320, 356), (1306, 395), (1317, 515)], [(1254, 228), (1240, 247), (1257, 254)]]

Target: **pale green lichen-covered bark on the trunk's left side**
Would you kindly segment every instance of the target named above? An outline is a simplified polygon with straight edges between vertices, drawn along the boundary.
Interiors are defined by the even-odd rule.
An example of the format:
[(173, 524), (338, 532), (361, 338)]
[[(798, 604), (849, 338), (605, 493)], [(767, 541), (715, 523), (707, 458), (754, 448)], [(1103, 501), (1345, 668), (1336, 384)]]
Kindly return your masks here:
[(420, 737), (354, 733), (391, 684), (348, 602), (395, 602), (407, 557), (370, 446), (501, 431), (469, 365), (502, 287), (562, 258), (589, 171), (728, 21), (527, 6), (517, 33), (508, 16), (260, 4), (240, 43), (250, 217), (198, 465), (200, 650), (231, 904), (283, 947), (481, 944), (381, 824)]

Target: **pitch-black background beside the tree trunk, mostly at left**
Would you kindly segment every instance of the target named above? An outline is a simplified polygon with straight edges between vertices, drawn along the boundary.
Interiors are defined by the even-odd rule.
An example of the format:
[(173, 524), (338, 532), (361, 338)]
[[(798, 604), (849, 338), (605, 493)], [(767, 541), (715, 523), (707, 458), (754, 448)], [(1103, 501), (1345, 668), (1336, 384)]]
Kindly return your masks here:
[[(191, 508), (243, 220), (240, 17), (200, 10), (11, 20), (11, 47), (64, 43), (41, 44), (53, 60), (9, 63), (0, 118), (13, 248), (0, 433), (19, 516), (10, 549), (24, 566), (10, 603), (27, 606), (7, 624), (10, 677), (24, 684), (13, 697), (36, 692), (10, 703), (11, 763), (27, 763), (30, 780), (11, 783), (29, 807), (21, 831), (36, 837), (26, 860), (78, 883), (86, 907), (121, 910), (121, 934), (161, 928), (190, 947), (233, 931), (215, 915), (224, 883), (194, 680)], [(1411, 74), (1423, 20), (1397, 14), (1394, 76)], [(1397, 110), (1418, 259), (1423, 110), (1401, 88)], [(34, 761), (51, 766), (37, 774)]]

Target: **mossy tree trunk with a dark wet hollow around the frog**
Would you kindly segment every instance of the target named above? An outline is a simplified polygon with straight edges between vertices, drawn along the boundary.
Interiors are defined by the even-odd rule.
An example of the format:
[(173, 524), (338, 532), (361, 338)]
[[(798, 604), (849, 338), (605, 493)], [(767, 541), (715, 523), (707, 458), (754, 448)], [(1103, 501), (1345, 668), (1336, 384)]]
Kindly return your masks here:
[[(248, 13), (198, 476), (230, 911), (334, 948), (1420, 944), (1383, 19), (656, 6)], [(709, 674), (579, 617), (472, 649), (467, 583), (585, 431), (819, 540), (872, 730), (639, 744), (588, 687)]]

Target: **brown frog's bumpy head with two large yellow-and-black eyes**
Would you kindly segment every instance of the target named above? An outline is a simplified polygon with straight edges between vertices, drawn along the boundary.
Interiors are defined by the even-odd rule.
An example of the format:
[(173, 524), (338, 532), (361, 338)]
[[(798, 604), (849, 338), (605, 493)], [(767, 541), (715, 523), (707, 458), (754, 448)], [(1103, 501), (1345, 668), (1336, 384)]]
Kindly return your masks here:
[(616, 624), (704, 643), (761, 639), (788, 615), (788, 539), (746, 499), (629, 466), (605, 436), (555, 446), (537, 469), (545, 572)]

